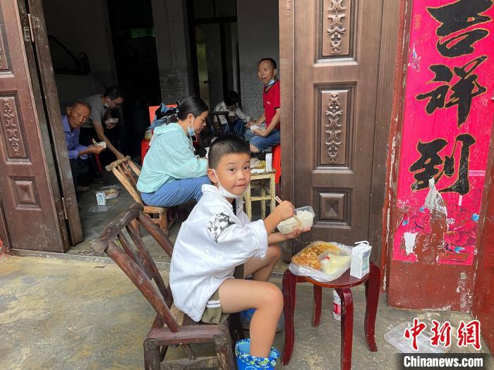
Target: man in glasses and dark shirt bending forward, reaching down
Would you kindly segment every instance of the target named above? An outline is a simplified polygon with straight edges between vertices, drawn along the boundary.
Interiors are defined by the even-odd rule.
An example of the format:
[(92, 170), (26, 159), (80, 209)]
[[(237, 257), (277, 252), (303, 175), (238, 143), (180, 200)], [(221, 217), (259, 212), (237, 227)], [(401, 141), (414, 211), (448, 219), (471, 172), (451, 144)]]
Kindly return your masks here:
[(118, 125), (118, 118), (112, 118), (112, 111), (116, 111), (123, 104), (122, 90), (117, 86), (110, 86), (104, 94), (92, 95), (83, 100), (91, 106), (91, 114), (90, 119), (81, 128), (80, 142), (89, 145), (93, 139), (99, 142), (104, 141), (116, 159), (122, 159), (123, 154), (117, 149), (119, 144), (116, 142), (119, 140), (119, 132), (123, 131), (123, 127)]

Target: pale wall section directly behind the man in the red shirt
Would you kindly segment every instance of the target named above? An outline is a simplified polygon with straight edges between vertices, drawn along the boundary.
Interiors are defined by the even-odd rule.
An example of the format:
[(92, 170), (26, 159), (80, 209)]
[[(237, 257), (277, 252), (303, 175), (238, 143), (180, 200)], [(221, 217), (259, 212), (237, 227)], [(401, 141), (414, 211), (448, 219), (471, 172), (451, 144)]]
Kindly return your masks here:
[(263, 112), (262, 85), (257, 77), (260, 58), (279, 63), (277, 0), (236, 0), (239, 25), (242, 110), (254, 118)]

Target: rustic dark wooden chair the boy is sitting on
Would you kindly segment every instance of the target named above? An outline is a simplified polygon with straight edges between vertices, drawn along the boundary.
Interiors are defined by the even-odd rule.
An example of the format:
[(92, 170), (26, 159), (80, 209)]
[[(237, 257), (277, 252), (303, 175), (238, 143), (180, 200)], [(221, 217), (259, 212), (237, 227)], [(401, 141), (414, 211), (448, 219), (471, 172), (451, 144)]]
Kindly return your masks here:
[[(235, 369), (234, 345), (236, 340), (243, 338), (239, 314), (230, 315), (222, 324), (210, 325), (195, 323), (175, 307), (169, 285), (164, 283), (133, 225), (138, 223), (143, 226), (169, 257), (173, 245), (152, 219), (143, 214), (143, 210), (142, 204), (133, 204), (128, 211), (109, 223), (99, 238), (92, 240), (91, 248), (97, 254), (106, 252), (157, 313), (143, 343), (145, 369)], [(191, 345), (200, 343), (212, 343), (215, 356), (196, 357)], [(164, 361), (170, 345), (183, 347), (187, 358)]]

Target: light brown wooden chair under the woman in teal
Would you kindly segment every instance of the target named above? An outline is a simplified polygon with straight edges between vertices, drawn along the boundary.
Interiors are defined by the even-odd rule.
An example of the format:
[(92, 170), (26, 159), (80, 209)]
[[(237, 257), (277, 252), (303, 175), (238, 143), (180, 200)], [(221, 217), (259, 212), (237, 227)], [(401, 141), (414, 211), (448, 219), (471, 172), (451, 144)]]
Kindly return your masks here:
[[(143, 199), (140, 197), (140, 192), (137, 190), (137, 180), (140, 175), (140, 168), (131, 160), (130, 156), (126, 156), (123, 159), (117, 159), (109, 164), (107, 171), (112, 171), (120, 183), (130, 193), (131, 197), (144, 206), (144, 213), (150, 214), (154, 218), (151, 218), (153, 222), (159, 225), (165, 235), (168, 235), (169, 229), (175, 223), (175, 218), (171, 218), (168, 221), (168, 210), (161, 206), (146, 206), (143, 203)], [(173, 212), (173, 211), (172, 211)]]

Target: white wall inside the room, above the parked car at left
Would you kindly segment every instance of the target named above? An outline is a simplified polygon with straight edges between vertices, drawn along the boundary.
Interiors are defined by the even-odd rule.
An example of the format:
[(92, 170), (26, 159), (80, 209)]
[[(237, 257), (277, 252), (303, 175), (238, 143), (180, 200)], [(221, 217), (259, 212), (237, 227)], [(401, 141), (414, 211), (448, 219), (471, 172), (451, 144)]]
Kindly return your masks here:
[(60, 39), (75, 53), (88, 54), (92, 73), (105, 85), (115, 85), (107, 1), (43, 0), (42, 4), (48, 34)]

